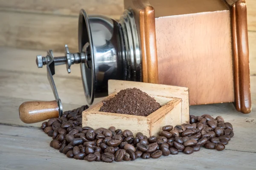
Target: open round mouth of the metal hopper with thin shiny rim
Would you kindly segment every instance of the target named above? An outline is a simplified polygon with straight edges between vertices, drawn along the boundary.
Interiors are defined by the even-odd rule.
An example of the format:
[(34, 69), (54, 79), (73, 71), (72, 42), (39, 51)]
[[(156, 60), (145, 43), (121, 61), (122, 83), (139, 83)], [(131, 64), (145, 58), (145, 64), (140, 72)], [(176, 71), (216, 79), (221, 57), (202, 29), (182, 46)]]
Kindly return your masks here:
[(81, 9), (79, 13), (78, 44), (79, 53), (84, 52), (88, 57), (87, 62), (80, 63), (80, 68), (84, 94), (88, 104), (91, 105), (95, 96), (95, 64), (89, 17), (84, 9)]

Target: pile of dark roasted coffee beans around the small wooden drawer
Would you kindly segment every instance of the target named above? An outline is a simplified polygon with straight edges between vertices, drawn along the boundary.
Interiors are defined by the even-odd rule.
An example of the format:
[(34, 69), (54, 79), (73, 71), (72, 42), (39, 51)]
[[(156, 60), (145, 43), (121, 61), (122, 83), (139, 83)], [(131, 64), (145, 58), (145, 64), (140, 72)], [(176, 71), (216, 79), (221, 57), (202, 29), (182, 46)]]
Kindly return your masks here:
[(221, 116), (190, 116), (190, 124), (166, 125), (159, 136), (145, 136), (130, 130), (93, 129), (82, 127), (82, 111), (88, 106), (64, 112), (61, 118), (49, 119), (41, 129), (52, 137), (50, 146), (68, 158), (87, 161), (130, 161), (176, 155), (191, 154), (201, 147), (224, 150), (234, 136), (233, 127)]

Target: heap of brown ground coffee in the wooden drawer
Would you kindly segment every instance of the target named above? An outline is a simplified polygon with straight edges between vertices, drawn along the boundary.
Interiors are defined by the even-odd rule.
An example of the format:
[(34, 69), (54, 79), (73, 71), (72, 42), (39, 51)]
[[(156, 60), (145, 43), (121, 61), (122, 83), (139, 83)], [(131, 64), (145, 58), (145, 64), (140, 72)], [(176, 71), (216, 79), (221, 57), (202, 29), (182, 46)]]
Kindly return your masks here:
[(113, 98), (103, 102), (99, 111), (148, 116), (161, 106), (154, 98), (137, 88), (119, 91)]

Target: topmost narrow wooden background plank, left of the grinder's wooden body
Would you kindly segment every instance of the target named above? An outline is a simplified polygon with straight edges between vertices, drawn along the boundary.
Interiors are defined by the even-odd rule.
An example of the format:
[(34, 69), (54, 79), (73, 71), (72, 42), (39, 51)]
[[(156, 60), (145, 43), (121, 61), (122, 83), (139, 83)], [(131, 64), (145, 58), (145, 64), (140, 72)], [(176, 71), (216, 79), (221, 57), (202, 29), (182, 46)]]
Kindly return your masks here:
[(67, 15), (78, 17), (83, 8), (88, 14), (103, 14), (119, 19), (123, 0), (0, 0), (0, 10)]

